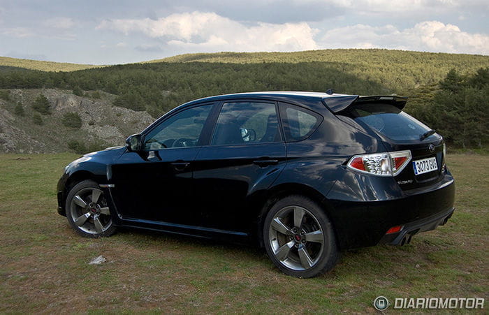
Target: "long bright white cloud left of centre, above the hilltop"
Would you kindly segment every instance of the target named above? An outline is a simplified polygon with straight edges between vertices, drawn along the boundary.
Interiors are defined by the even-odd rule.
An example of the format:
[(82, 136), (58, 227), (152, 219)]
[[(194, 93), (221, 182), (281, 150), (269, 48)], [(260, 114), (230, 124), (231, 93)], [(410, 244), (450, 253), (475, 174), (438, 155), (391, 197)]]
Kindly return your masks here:
[(316, 29), (305, 22), (247, 25), (216, 13), (180, 13), (159, 20), (104, 20), (97, 29), (124, 34), (141, 32), (168, 45), (202, 47), (204, 50), (312, 50)]

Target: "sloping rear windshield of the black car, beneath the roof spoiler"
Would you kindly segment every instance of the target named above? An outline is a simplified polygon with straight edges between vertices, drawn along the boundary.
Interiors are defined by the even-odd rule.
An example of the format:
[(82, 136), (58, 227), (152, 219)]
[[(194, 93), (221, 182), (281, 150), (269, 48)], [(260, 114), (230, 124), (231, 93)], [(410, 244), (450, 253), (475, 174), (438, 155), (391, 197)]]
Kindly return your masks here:
[[(392, 140), (419, 140), (430, 128), (399, 108), (382, 103), (365, 103), (349, 108), (349, 117)], [(431, 135), (432, 137), (433, 135)], [(429, 137), (428, 137), (429, 138)]]

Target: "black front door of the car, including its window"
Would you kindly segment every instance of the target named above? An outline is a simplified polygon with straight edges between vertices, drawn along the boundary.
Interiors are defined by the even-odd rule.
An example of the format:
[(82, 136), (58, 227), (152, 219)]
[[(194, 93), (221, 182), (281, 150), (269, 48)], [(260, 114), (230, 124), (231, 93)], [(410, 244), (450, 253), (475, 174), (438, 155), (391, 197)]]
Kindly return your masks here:
[(186, 223), (192, 161), (212, 106), (187, 108), (164, 119), (143, 135), (140, 152), (125, 152), (112, 166), (114, 198), (122, 219)]

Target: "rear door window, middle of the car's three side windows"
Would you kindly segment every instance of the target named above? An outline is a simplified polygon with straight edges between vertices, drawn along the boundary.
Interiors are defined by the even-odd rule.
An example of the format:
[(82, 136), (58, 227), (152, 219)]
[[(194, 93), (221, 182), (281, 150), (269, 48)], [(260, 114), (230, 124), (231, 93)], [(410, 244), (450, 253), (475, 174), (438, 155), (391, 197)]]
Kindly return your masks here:
[(211, 145), (280, 142), (274, 103), (224, 103), (217, 119)]

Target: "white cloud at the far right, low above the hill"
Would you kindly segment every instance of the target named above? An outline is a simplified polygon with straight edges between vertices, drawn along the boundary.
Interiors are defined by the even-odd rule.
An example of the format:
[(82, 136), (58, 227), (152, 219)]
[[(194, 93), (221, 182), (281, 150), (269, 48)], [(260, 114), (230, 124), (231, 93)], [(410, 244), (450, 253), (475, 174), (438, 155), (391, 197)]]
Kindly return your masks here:
[(453, 24), (437, 21), (421, 22), (410, 29), (393, 25), (372, 27), (356, 24), (326, 31), (321, 38), (323, 47), (370, 48), (382, 47), (430, 52), (489, 54), (489, 36), (469, 34)]

